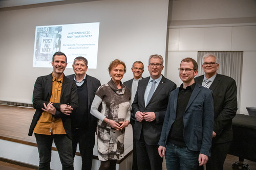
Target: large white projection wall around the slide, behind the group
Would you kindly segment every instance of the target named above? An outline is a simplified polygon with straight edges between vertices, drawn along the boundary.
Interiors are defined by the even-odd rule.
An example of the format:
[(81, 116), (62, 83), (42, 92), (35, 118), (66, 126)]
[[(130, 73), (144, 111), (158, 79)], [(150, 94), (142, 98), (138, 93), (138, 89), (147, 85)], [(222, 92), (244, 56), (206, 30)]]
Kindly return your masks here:
[[(127, 65), (123, 81), (132, 78), (136, 60), (165, 57), (168, 0), (104, 0), (43, 7), (0, 8), (0, 101), (32, 103), (34, 82), (52, 68), (33, 68), (36, 26), (100, 22), (97, 69), (88, 74), (101, 83), (110, 80), (108, 66), (114, 59)], [(64, 52), (65, 53), (65, 52)], [(66, 75), (73, 74), (71, 68)], [(147, 77), (145, 70), (143, 76)]]

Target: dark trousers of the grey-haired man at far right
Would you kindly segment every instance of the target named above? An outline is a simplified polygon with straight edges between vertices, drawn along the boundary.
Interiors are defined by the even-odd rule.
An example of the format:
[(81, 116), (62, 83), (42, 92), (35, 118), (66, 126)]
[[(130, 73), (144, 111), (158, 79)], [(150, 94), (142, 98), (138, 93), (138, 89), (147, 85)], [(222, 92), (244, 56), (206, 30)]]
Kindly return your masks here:
[(222, 170), (231, 142), (213, 143), (211, 154), (206, 163), (207, 170)]

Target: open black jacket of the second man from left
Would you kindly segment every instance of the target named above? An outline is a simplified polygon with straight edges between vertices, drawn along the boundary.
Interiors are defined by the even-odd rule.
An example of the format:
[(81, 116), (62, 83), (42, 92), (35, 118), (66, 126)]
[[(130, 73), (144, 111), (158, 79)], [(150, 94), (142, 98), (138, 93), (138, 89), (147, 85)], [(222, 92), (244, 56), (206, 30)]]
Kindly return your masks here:
[[(69, 76), (67, 76), (67, 78), (74, 81), (75, 74), (69, 75)], [(88, 94), (87, 95), (87, 101), (88, 101), (87, 113), (88, 113), (88, 118), (89, 118), (87, 121), (87, 124), (88, 124), (87, 127), (89, 127), (89, 129), (88, 129), (89, 131), (94, 133), (96, 126), (97, 126), (98, 119), (90, 113), (90, 110), (91, 110), (91, 105), (92, 105), (95, 93), (96, 93), (98, 87), (100, 86), (100, 81), (92, 76), (86, 75), (86, 82), (87, 82), (87, 94)], [(82, 104), (83, 104), (83, 101), (78, 101), (79, 106)]]

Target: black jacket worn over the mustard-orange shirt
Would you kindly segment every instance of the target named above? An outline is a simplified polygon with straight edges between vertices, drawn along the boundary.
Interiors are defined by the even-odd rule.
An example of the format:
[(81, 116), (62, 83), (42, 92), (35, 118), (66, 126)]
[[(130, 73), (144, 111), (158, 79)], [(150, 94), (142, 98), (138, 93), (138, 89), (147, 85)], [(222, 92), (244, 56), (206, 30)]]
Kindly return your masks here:
[[(52, 95), (52, 74), (48, 76), (41, 76), (36, 79), (34, 91), (33, 91), (33, 107), (36, 109), (33, 116), (30, 128), (29, 136), (32, 136), (37, 120), (40, 118), (44, 107), (44, 103), (47, 105)], [(60, 103), (53, 103), (56, 108), (55, 118), (61, 118), (63, 127), (71, 138), (71, 119), (70, 116), (60, 112), (61, 104), (69, 104), (73, 111), (78, 106), (76, 83), (68, 79), (65, 75), (63, 76), (63, 82), (60, 93)], [(72, 113), (71, 113), (72, 114)]]

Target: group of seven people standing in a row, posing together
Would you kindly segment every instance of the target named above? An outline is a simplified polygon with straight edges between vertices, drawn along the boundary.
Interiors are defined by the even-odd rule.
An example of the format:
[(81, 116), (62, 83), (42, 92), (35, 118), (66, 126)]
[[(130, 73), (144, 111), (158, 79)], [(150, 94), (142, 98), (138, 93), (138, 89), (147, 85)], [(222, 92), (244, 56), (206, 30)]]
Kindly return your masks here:
[(95, 132), (99, 169), (115, 169), (124, 157), (124, 132), (133, 128), (132, 169), (223, 169), (232, 140), (232, 118), (237, 111), (236, 82), (217, 74), (218, 58), (207, 54), (198, 64), (185, 58), (179, 67), (183, 82), (178, 88), (162, 75), (163, 58), (148, 59), (150, 77), (143, 78), (144, 65), (132, 65), (133, 79), (121, 82), (125, 63), (109, 65), (111, 80), (100, 81), (86, 74), (88, 61), (76, 57), (74, 74), (65, 76), (64, 53), (52, 58), (53, 72), (38, 77), (33, 91), (36, 109), (29, 129), (35, 134), (39, 169), (50, 169), (54, 140), (62, 169), (74, 169), (77, 144), (82, 169), (91, 169)]

